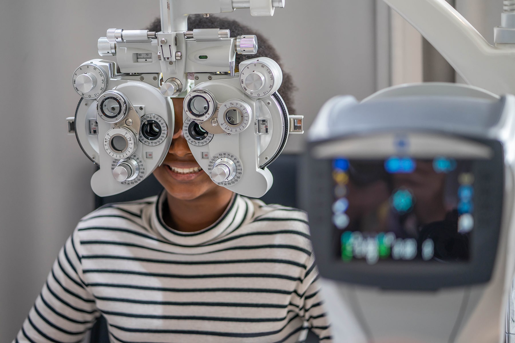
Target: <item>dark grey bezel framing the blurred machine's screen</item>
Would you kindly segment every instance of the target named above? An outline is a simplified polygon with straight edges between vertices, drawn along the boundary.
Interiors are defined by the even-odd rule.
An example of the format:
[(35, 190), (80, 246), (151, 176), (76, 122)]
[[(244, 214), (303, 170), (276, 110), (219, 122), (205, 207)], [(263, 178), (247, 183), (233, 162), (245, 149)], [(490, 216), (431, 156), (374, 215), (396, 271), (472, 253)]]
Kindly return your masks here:
[[(482, 143), (492, 149), (488, 160), (473, 163), (474, 230), (470, 242), (470, 260), (438, 263), (427, 261), (381, 261), (369, 265), (363, 261), (344, 262), (335, 257), (334, 226), (331, 221), (333, 203), (332, 158), (311, 156), (310, 143), (304, 156), (304, 206), (309, 215), (313, 247), (320, 274), (328, 279), (389, 290), (438, 290), (488, 282), (499, 244), (504, 195), (504, 153), (501, 142), (452, 135)], [(341, 139), (341, 138), (340, 138)], [(340, 139), (334, 139), (340, 140)], [(331, 248), (328, 248), (330, 242)]]

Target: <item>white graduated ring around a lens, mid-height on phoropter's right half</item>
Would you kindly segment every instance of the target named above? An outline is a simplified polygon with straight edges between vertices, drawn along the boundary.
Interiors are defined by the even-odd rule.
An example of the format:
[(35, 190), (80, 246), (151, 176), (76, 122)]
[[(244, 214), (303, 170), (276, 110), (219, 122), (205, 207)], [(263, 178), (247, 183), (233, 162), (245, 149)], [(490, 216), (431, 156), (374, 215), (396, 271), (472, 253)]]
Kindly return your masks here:
[(227, 133), (238, 133), (247, 129), (252, 117), (252, 109), (242, 100), (231, 99), (218, 110), (218, 123)]

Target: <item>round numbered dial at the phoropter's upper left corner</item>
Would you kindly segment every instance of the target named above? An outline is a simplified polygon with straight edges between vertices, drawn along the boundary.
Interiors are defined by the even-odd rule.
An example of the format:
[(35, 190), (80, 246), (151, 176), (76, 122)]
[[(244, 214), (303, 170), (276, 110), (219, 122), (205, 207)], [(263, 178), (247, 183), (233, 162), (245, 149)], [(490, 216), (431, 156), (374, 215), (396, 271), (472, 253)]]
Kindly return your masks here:
[(73, 74), (73, 87), (83, 98), (96, 98), (107, 88), (109, 81), (106, 71), (94, 64), (85, 63)]

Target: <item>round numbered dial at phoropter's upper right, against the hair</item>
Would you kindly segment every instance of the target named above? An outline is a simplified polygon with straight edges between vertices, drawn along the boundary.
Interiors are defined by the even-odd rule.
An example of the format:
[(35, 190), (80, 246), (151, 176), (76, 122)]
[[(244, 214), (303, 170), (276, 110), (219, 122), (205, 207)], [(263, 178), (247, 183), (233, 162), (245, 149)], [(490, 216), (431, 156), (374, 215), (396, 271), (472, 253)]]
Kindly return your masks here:
[(283, 82), (283, 73), (276, 61), (267, 57), (239, 64), (239, 83), (253, 98), (266, 98), (276, 93)]

